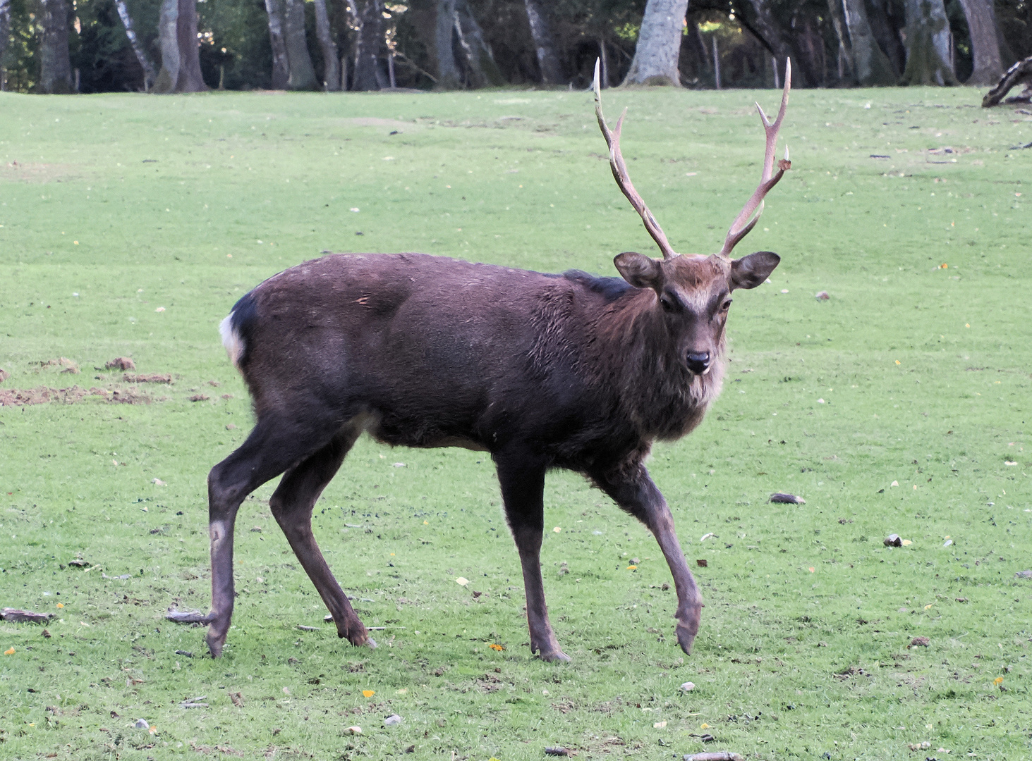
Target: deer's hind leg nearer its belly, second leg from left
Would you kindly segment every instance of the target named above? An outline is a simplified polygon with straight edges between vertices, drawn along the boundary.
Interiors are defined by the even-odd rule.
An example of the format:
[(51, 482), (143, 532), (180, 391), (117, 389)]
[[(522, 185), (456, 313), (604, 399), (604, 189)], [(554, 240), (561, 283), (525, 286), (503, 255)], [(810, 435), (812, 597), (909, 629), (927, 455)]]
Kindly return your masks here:
[(337, 636), (347, 637), (355, 646), (375, 648), (377, 643), (348, 602), (348, 596), (334, 578), (312, 533), (312, 509), (316, 500), (333, 478), (361, 430), (357, 425), (346, 428), (323, 449), (290, 468), (268, 504), (294, 555), (333, 617)]

